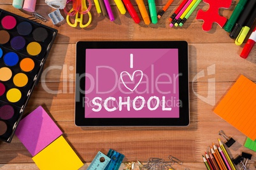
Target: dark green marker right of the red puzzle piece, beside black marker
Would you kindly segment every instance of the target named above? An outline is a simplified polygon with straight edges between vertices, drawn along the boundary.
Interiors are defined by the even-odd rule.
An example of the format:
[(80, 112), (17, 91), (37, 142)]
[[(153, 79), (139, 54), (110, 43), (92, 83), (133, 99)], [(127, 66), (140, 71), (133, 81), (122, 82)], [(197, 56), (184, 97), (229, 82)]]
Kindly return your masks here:
[(231, 17), (229, 20), (227, 20), (227, 23), (225, 24), (224, 30), (227, 32), (231, 32), (232, 28), (234, 27), (236, 20), (238, 20), (238, 16), (243, 11), (243, 8), (245, 7), (245, 4), (247, 3), (247, 0), (239, 0), (238, 4), (236, 5), (236, 8), (232, 12)]

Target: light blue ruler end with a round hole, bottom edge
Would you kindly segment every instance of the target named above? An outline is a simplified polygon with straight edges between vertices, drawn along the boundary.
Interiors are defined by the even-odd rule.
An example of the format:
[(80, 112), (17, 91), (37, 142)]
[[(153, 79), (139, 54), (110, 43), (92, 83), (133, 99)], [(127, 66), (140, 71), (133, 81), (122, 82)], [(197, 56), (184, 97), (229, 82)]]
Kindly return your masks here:
[(90, 166), (87, 168), (87, 170), (103, 170), (106, 166), (108, 166), (110, 160), (110, 157), (107, 157), (102, 152), (98, 152), (96, 157), (94, 157), (94, 160), (92, 160)]

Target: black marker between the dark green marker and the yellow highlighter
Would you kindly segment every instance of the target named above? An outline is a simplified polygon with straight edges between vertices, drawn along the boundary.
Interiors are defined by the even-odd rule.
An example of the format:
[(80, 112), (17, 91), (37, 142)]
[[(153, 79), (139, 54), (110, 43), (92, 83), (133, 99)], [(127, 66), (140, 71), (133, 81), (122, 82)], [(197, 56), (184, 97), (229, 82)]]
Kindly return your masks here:
[(241, 31), (243, 25), (246, 22), (246, 18), (248, 18), (253, 9), (255, 10), (255, 4), (255, 0), (249, 0), (248, 3), (246, 3), (245, 9), (238, 17), (236, 25), (233, 27), (231, 33), (229, 34), (229, 37), (231, 37), (232, 39), (236, 39), (236, 37), (238, 37), (239, 32)]

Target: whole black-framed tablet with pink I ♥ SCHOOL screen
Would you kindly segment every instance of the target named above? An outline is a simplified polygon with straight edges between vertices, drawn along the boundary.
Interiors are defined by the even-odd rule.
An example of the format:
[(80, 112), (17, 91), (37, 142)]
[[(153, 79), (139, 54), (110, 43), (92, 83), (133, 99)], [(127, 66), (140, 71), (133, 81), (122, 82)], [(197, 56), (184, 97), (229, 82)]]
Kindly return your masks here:
[(75, 124), (188, 126), (187, 42), (77, 42)]

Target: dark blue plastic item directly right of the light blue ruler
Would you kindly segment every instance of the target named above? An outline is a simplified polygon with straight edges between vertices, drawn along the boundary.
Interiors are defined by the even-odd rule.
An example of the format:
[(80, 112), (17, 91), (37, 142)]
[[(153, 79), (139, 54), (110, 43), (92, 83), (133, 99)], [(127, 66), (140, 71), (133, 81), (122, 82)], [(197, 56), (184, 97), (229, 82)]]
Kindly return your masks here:
[(107, 154), (110, 157), (110, 163), (104, 170), (118, 170), (124, 159), (124, 155), (110, 149)]

